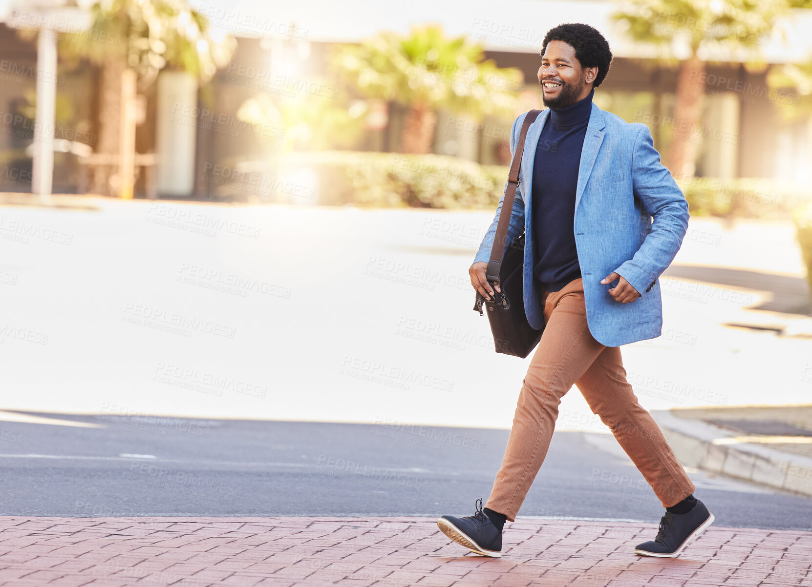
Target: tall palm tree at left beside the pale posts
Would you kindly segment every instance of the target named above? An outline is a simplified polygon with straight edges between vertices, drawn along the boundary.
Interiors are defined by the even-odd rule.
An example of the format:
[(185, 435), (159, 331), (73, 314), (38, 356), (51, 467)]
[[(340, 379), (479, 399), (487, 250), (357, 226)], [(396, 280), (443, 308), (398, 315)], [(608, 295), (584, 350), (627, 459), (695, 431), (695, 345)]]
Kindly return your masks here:
[[(164, 68), (186, 71), (208, 81), (227, 64), (235, 49), (231, 36), (215, 38), (208, 19), (186, 0), (97, 0), (90, 6), (89, 32), (60, 36), (60, 53), (69, 60), (88, 58), (101, 67), (97, 152), (119, 152), (121, 120), (129, 99), (126, 80), (143, 91)], [(136, 88), (132, 88), (132, 94)], [(127, 90), (125, 90), (126, 92)], [(110, 192), (106, 166), (94, 170), (93, 191)]]

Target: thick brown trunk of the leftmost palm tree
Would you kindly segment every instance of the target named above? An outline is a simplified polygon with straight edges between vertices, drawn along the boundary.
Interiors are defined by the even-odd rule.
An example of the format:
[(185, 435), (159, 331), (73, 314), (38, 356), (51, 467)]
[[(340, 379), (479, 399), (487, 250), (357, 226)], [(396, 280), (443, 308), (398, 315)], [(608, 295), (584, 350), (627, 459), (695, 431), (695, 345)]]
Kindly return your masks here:
[[(110, 58), (102, 64), (99, 84), (98, 142), (96, 152), (113, 157), (119, 156), (121, 134), (121, 80), (126, 63), (120, 58)], [(91, 191), (96, 194), (114, 195), (119, 178), (118, 165), (96, 165), (93, 169)]]

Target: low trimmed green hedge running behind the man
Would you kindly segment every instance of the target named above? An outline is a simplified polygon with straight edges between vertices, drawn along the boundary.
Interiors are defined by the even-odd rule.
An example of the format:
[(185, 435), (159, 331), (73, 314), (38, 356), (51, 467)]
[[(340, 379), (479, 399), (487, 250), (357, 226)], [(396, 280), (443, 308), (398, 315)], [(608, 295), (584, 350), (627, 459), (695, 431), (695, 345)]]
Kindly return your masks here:
[[(506, 165), (452, 156), (322, 151), (284, 157), (270, 174), (307, 167), (316, 172), (317, 204), (364, 207), (493, 209), (508, 179)], [(678, 181), (692, 216), (784, 217), (809, 191), (768, 179)], [(283, 201), (283, 199), (276, 199)]]

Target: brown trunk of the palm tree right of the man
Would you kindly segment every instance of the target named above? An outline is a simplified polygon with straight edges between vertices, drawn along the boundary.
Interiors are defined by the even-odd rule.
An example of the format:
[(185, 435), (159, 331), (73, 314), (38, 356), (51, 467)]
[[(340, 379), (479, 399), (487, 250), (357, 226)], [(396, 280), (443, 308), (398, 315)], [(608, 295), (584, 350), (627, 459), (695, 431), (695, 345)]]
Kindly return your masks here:
[(668, 151), (668, 169), (675, 178), (692, 178), (696, 168), (698, 133), (705, 95), (705, 62), (694, 54), (680, 63), (674, 104), (674, 136)]

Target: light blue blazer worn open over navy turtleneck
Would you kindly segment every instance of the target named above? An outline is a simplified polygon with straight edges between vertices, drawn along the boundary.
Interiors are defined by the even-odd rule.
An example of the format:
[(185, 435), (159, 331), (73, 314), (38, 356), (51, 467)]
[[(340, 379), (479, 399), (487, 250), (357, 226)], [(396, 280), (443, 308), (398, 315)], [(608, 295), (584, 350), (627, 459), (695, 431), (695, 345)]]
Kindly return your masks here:
[[(516, 152), (522, 121), (513, 122), (510, 150)], [(543, 288), (533, 279), (533, 161), (550, 110), (530, 125), (521, 159), (519, 186), (513, 201), (508, 244), (525, 232), (525, 313), (533, 328), (542, 328)], [(507, 187), (507, 182), (505, 186)], [(494, 221), (482, 238), (474, 263), (487, 262), (504, 195)], [(659, 279), (680, 250), (688, 229), (688, 203), (660, 163), (648, 126), (628, 123), (593, 103), (586, 127), (575, 194), (575, 243), (584, 283), (586, 320), (595, 340), (606, 346), (627, 345), (660, 336), (663, 305)], [(611, 285), (601, 280), (611, 272), (623, 276), (640, 298), (615, 302)]]

